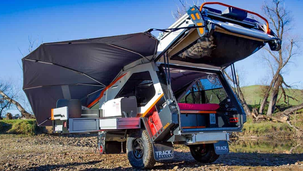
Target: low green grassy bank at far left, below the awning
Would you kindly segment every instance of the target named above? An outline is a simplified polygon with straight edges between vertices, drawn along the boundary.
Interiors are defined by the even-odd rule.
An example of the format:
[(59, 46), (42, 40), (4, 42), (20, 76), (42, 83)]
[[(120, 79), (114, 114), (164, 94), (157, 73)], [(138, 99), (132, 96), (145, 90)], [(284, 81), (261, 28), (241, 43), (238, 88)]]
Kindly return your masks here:
[(36, 135), (39, 127), (36, 120), (0, 120), (0, 132), (23, 134), (23, 135)]

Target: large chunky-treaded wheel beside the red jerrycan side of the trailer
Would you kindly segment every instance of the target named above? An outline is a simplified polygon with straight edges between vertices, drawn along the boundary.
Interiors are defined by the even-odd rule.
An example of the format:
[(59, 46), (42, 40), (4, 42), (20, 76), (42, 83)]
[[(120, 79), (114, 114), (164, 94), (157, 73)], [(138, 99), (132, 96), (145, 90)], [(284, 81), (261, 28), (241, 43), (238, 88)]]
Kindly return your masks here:
[(127, 137), (126, 153), (130, 165), (137, 169), (150, 169), (156, 164), (152, 143), (146, 130)]

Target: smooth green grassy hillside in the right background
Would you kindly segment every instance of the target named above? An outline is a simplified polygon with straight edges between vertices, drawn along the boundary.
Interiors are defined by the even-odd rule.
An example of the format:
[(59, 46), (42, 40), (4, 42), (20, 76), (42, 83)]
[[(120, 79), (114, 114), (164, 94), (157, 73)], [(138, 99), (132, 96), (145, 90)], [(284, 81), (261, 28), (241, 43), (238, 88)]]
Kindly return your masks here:
[[(242, 87), (241, 90), (244, 94), (246, 103), (249, 105), (254, 105), (255, 103), (258, 105), (260, 102), (260, 99), (262, 100), (261, 96), (261, 85), (252, 85), (252, 86), (246, 86)], [(300, 102), (297, 102), (295, 100), (289, 99), (289, 104), (297, 105), (303, 103), (303, 96), (302, 96), (302, 90), (299, 89), (285, 89), (285, 92), (287, 95), (296, 97)], [(279, 92), (279, 96), (281, 95), (281, 91)], [(280, 103), (283, 102), (283, 97), (280, 100)]]

